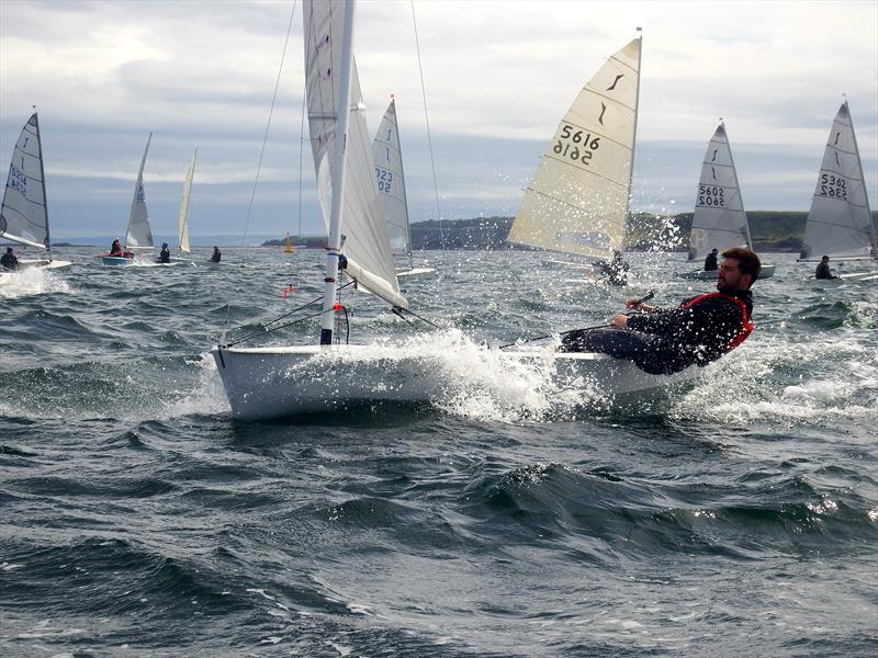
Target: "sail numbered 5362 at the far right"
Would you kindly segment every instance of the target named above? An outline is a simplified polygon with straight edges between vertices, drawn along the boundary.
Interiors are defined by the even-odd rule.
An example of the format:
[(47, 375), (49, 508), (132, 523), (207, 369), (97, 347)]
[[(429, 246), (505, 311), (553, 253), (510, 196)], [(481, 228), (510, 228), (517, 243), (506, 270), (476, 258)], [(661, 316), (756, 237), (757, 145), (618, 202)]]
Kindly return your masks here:
[(832, 123), (808, 213), (801, 260), (878, 256), (875, 225), (847, 101)]

